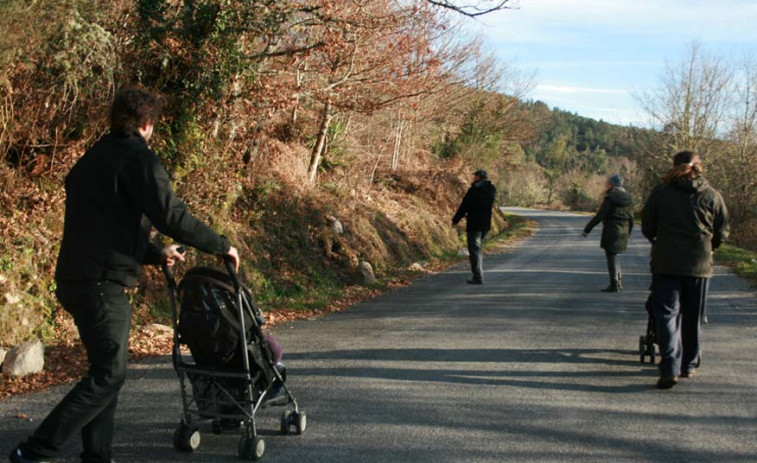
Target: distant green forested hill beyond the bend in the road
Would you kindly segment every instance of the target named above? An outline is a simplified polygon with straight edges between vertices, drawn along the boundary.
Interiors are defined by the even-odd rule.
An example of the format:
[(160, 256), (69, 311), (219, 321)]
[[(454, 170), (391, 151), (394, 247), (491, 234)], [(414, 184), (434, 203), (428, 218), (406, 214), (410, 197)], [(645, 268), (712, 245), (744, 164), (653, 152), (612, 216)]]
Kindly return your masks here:
[(499, 183), (503, 202), (593, 210), (613, 173), (620, 173), (632, 192), (645, 189), (638, 160), (651, 130), (550, 109), (541, 101), (522, 102), (520, 107), (529, 115), (532, 134), (510, 146), (510, 163)]

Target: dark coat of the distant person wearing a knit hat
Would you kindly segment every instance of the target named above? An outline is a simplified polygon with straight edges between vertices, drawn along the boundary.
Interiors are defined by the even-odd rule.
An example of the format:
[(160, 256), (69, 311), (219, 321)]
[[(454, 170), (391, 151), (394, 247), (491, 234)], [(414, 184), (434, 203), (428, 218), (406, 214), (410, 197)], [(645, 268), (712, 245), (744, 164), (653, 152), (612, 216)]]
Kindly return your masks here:
[(602, 222), (602, 249), (610, 254), (625, 252), (633, 230), (633, 200), (623, 187), (613, 187), (605, 193), (602, 205), (584, 227), (584, 233), (591, 233), (599, 222)]

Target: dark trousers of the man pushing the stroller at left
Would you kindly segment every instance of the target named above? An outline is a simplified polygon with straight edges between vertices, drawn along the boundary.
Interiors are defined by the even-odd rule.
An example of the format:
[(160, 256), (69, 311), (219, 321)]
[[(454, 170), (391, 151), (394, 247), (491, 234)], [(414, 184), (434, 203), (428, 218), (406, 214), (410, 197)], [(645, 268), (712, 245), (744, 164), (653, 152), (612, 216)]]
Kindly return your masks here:
[(124, 287), (110, 282), (59, 284), (56, 295), (74, 317), (89, 370), (21, 448), (50, 457), (81, 432), (82, 461), (110, 462), (118, 392), (126, 378), (131, 306)]

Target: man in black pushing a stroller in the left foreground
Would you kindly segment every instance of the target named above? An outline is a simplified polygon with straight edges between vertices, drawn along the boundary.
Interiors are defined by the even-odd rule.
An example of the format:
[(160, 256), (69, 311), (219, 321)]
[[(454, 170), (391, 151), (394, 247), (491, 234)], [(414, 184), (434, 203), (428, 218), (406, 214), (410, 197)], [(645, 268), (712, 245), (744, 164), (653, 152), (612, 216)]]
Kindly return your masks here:
[[(176, 241), (238, 265), (237, 250), (194, 218), (147, 145), (159, 119), (157, 98), (127, 88), (115, 97), (111, 131), (66, 177), (66, 212), (56, 295), (79, 330), (89, 370), (11, 462), (49, 461), (81, 433), (85, 463), (110, 463), (118, 393), (126, 378), (134, 286), (144, 264), (184, 260), (177, 245), (149, 241), (153, 225)], [(146, 459), (149, 460), (148, 457)]]

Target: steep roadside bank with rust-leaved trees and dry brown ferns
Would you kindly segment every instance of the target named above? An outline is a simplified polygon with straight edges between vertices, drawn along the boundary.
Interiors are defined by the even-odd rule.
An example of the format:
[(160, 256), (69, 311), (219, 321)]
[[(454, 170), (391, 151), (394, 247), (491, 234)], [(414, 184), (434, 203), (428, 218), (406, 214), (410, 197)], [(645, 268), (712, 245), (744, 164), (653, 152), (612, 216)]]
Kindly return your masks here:
[[(74, 336), (53, 295), (63, 180), (107, 132), (124, 85), (161, 95), (151, 147), (190, 210), (239, 248), (267, 310), (327, 307), (359, 282), (360, 261), (381, 287), (410, 264), (455, 256), (464, 234), (449, 221), (479, 165), (434, 147), (459, 127), (449, 98), (470, 94), (450, 71), (468, 44), (434, 51), (447, 16), (425, 1), (403, 8), (9, 2), (0, 19), (12, 32), (0, 39), (0, 346)], [(496, 229), (505, 226), (498, 215)], [(184, 268), (204, 262), (213, 259), (190, 251)], [(130, 297), (136, 324), (166, 320), (158, 271)]]

